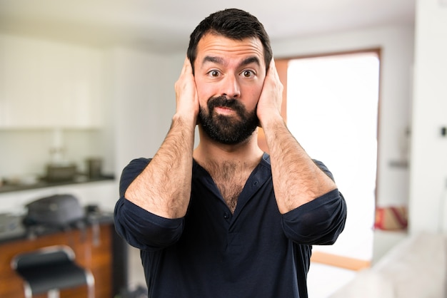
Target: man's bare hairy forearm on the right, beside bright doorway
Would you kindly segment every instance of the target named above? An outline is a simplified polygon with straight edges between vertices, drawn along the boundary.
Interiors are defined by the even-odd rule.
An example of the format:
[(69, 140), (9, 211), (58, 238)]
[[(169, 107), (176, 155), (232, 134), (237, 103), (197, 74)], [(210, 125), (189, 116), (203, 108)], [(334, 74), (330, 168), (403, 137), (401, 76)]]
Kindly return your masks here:
[(263, 123), (271, 158), (273, 188), (281, 213), (289, 212), (336, 188), (293, 138), (281, 117)]

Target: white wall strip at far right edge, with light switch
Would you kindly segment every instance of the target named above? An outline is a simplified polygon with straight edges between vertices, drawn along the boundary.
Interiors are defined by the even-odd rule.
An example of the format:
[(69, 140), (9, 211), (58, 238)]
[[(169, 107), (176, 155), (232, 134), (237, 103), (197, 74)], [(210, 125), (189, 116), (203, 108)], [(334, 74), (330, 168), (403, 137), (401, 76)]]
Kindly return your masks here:
[(415, 53), (410, 232), (436, 232), (447, 199), (447, 137), (440, 131), (447, 126), (447, 3), (416, 1)]

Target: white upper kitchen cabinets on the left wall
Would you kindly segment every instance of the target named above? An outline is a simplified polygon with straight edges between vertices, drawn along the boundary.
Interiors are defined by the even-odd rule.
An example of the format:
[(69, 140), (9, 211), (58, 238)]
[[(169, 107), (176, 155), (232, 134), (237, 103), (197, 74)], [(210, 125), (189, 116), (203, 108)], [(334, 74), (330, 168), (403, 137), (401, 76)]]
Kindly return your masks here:
[(99, 128), (101, 51), (0, 35), (0, 128)]

